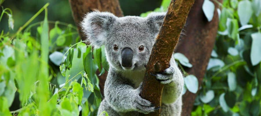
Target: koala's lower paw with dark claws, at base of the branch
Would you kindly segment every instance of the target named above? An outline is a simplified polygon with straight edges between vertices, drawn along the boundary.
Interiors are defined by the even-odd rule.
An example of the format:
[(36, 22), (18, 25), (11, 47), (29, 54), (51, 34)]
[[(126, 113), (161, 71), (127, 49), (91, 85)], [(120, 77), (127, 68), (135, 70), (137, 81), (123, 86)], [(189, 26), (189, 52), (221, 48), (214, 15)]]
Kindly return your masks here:
[(134, 107), (137, 111), (144, 114), (148, 114), (160, 109), (156, 108), (155, 105), (153, 105), (150, 101), (143, 99), (140, 96), (136, 97), (136, 99), (134, 100)]

